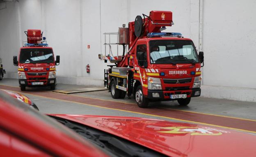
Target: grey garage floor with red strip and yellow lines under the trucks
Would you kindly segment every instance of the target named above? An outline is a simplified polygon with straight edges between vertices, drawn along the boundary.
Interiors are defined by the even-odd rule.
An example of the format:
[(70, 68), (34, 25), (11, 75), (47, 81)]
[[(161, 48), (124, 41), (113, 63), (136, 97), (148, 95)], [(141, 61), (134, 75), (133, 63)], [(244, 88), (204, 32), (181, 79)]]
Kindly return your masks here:
[[(0, 81), (0, 88), (10, 88), (9, 90), (19, 91), (18, 80), (16, 79), (6, 79), (4, 78)], [(64, 89), (75, 89), (75, 88), (86, 88), (87, 86), (77, 86), (77, 85), (67, 85), (67, 84), (57, 84), (56, 90)], [(88, 86), (89, 87), (89, 86)], [(21, 92), (21, 91), (20, 91)], [(128, 116), (128, 117), (145, 117), (154, 119), (163, 119), (175, 122), (189, 122), (189, 123), (199, 123), (202, 124), (203, 116), (209, 117), (207, 123), (203, 124), (215, 124), (215, 118), (223, 118), (232, 120), (229, 123), (244, 123), (249, 122), (248, 125), (256, 124), (256, 104), (254, 102), (239, 102), (231, 100), (220, 100), (211, 99), (203, 97), (192, 98), (188, 106), (179, 106), (176, 101), (167, 102), (152, 102), (149, 108), (142, 110), (137, 107), (133, 97), (125, 99), (112, 99), (108, 91), (96, 91), (88, 93), (77, 93), (69, 94), (65, 97), (71, 97), (69, 100), (62, 100), (53, 97), (42, 96), (41, 93), (48, 95), (53, 95), (49, 87), (40, 88), (27, 88), (27, 91), (23, 94), (30, 97), (30, 99), (37, 104), (41, 113), (62, 113), (62, 114), (81, 114), (81, 115), (113, 115), (113, 116)], [(64, 94), (55, 93), (55, 95), (63, 96)], [(75, 102), (75, 99), (83, 98), (84, 101)], [(94, 98), (88, 101), (87, 98)], [(87, 100), (85, 100), (87, 99)], [(99, 105), (91, 104), (93, 101), (101, 101)], [(108, 106), (104, 106), (108, 104)], [(115, 107), (114, 103), (120, 103), (121, 109)], [(103, 105), (101, 105), (103, 104)], [(145, 111), (145, 112), (144, 112)], [(169, 114), (169, 113), (170, 114)], [(162, 113), (162, 114), (161, 114)], [(177, 115), (178, 113), (178, 115)], [(168, 115), (168, 116), (166, 116)], [(183, 117), (188, 116), (187, 120)], [(193, 117), (198, 116), (197, 120), (190, 121)], [(201, 116), (201, 119), (200, 119)], [(206, 117), (207, 118), (207, 117)], [(241, 121), (241, 119), (243, 121)], [(240, 122), (240, 121), (241, 122)], [(221, 121), (221, 119), (216, 119), (216, 121)], [(238, 122), (239, 121), (239, 122)], [(228, 121), (227, 121), (228, 122)], [(243, 125), (245, 125), (243, 124)], [(215, 124), (216, 125), (216, 124)], [(242, 124), (241, 124), (242, 125)], [(222, 127), (222, 124), (218, 124)], [(229, 126), (229, 125), (227, 125)], [(227, 128), (223, 125), (224, 128)], [(229, 126), (230, 127), (230, 126)], [(249, 127), (249, 126), (248, 126)], [(235, 130), (244, 131), (248, 133), (256, 134), (255, 128), (248, 128), (247, 126), (231, 127)], [(255, 130), (254, 130), (255, 129)]]

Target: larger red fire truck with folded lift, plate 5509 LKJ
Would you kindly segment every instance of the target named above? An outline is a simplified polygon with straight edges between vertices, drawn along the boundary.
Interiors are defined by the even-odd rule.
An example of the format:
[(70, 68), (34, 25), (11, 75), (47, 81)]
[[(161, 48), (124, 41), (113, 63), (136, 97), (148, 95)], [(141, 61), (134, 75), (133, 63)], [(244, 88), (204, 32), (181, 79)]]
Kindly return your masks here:
[[(203, 52), (198, 55), (192, 40), (181, 33), (161, 32), (174, 24), (171, 11), (151, 11), (143, 16), (129, 22), (128, 28), (119, 28), (118, 43), (106, 43), (105, 36), (110, 53), (105, 50), (99, 58), (115, 64), (105, 72), (105, 86), (114, 99), (133, 94), (142, 108), (150, 100), (189, 104), (191, 97), (201, 94)], [(123, 45), (123, 54), (113, 56), (112, 44)], [(129, 49), (125, 54), (126, 45)]]

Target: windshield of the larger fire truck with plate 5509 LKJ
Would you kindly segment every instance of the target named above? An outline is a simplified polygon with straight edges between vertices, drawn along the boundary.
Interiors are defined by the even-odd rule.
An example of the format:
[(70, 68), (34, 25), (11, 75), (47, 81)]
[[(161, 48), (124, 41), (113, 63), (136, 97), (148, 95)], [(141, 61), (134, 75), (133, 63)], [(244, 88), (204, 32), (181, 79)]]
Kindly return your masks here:
[(151, 64), (198, 63), (192, 41), (151, 40), (149, 46)]

